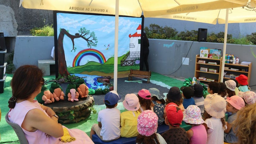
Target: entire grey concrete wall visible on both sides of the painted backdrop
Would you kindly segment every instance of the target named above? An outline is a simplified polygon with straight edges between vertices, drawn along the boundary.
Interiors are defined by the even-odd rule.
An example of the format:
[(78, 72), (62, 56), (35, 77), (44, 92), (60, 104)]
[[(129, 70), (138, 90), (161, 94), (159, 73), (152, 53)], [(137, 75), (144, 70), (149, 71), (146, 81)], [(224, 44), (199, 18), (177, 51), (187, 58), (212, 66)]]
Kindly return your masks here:
[[(149, 70), (162, 75), (194, 77), (195, 58), (200, 47), (223, 49), (223, 44), (178, 40), (149, 39)], [(13, 63), (17, 69), (24, 64), (38, 65), (38, 60), (52, 59), (54, 37), (17, 36)], [(256, 45), (227, 44), (226, 54), (234, 54), (239, 61), (252, 62), (250, 86), (256, 85)], [(188, 58), (188, 65), (182, 58)], [(145, 68), (145, 67), (144, 67)], [(253, 86), (252, 89), (256, 89)]]

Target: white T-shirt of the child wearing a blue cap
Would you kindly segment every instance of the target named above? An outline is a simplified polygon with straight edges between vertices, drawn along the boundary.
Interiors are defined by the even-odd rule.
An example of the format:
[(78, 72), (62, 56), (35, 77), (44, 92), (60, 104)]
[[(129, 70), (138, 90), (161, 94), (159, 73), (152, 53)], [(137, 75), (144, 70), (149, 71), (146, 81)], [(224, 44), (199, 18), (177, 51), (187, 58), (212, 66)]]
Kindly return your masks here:
[(98, 122), (101, 122), (101, 136), (103, 140), (113, 140), (121, 135), (120, 111), (117, 108), (99, 111)]

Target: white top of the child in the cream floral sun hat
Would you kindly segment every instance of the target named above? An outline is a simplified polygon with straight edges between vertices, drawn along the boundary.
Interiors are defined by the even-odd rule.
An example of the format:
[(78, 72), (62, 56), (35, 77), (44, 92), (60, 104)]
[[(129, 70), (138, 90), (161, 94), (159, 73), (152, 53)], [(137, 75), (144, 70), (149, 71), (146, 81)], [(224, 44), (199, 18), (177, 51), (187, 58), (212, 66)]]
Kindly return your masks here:
[[(220, 118), (207, 118), (204, 123), (209, 128), (207, 130), (206, 144), (223, 144), (224, 143), (224, 129)], [(227, 129), (227, 126), (225, 126)]]

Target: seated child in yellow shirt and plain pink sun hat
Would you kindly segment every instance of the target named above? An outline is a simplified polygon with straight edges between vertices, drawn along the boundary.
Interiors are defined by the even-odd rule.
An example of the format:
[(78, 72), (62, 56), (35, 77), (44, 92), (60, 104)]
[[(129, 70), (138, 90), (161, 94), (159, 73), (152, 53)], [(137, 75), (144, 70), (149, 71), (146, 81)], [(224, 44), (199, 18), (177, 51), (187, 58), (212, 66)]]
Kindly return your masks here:
[(137, 118), (140, 114), (140, 112), (138, 111), (138, 109), (140, 108), (140, 103), (137, 95), (134, 93), (126, 94), (123, 105), (128, 111), (124, 111), (121, 113), (121, 136), (137, 136)]

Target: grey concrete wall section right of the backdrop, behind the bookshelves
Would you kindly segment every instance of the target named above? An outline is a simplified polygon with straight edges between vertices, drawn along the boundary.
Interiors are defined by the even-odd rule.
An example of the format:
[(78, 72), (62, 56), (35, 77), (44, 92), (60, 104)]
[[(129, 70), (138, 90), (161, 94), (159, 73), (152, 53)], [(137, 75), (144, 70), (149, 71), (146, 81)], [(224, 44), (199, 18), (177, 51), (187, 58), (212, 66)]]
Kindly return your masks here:
[[(194, 77), (195, 59), (200, 47), (222, 49), (223, 44), (177, 40), (149, 39), (149, 70), (163, 75)], [(227, 44), (226, 54), (234, 54), (239, 61), (252, 62), (250, 86), (256, 85), (256, 46)], [(182, 57), (189, 58), (188, 65), (182, 64)], [(252, 87), (253, 89), (256, 86)]]

